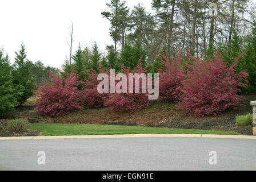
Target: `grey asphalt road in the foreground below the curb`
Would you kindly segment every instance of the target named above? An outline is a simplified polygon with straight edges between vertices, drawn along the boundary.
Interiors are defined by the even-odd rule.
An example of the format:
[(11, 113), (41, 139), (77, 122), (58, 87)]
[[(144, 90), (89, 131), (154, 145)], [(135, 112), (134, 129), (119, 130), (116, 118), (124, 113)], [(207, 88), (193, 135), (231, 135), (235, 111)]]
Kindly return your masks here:
[[(45, 152), (46, 164), (38, 164), (38, 158), (42, 159), (39, 151)], [(209, 156), (210, 151), (216, 153)], [(217, 164), (209, 163), (213, 157), (217, 160), (211, 161)], [(256, 170), (256, 140), (1, 140), (0, 170)]]

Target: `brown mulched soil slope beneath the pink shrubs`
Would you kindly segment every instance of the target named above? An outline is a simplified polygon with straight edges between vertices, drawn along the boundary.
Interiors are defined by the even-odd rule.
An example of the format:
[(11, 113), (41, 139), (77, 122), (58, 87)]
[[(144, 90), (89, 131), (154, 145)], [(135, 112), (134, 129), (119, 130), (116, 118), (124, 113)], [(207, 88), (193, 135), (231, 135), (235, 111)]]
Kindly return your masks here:
[(235, 131), (237, 133), (252, 135), (252, 127), (235, 126), (235, 116), (239, 114), (252, 113), (250, 101), (256, 100), (256, 96), (246, 96), (245, 105), (238, 110), (229, 110), (217, 116), (210, 115), (197, 118), (183, 113), (177, 104), (151, 102), (149, 109), (137, 113), (112, 113), (108, 108), (85, 109), (65, 115), (63, 117), (45, 118), (37, 114), (34, 106), (23, 106), (17, 108), (19, 118), (27, 118), (29, 122), (54, 122), (54, 123), (90, 123), (103, 125), (133, 125), (154, 126), (179, 129), (201, 129)]

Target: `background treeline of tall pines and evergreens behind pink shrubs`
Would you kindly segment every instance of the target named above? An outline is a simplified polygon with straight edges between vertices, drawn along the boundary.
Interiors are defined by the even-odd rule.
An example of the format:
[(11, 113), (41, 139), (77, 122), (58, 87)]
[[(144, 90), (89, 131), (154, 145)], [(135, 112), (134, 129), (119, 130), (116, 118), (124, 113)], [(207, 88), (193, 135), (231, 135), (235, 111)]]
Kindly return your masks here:
[[(210, 3), (218, 5), (218, 15), (210, 16)], [(109, 34), (113, 45), (101, 53), (94, 43), (92, 48), (78, 47), (69, 57), (63, 70), (73, 70), (84, 78), (85, 69), (98, 71), (99, 67), (120, 70), (120, 64), (133, 69), (142, 58), (147, 72), (155, 73), (161, 67), (158, 56), (195, 57), (206, 59), (215, 52), (231, 65), (242, 53), (242, 63), (237, 72), (247, 69), (249, 86), (244, 92), (256, 93), (255, 56), (256, 23), (255, 5), (249, 0), (153, 0), (152, 13), (142, 3), (129, 9), (125, 1), (111, 0), (106, 4), (109, 11), (102, 17), (109, 20)], [(73, 24), (71, 26), (73, 41)], [(72, 43), (72, 42), (71, 42)]]

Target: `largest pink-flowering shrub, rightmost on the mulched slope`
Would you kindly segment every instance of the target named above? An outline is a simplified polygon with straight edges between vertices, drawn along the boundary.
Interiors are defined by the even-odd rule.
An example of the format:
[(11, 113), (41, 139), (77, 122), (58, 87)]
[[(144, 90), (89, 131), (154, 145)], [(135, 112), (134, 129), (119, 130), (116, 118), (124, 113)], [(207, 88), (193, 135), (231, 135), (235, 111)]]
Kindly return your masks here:
[(190, 56), (187, 79), (183, 81), (181, 108), (189, 114), (205, 116), (218, 114), (226, 109), (237, 109), (243, 102), (239, 87), (246, 85), (246, 71), (235, 73), (235, 66), (223, 63), (220, 54), (201, 61)]

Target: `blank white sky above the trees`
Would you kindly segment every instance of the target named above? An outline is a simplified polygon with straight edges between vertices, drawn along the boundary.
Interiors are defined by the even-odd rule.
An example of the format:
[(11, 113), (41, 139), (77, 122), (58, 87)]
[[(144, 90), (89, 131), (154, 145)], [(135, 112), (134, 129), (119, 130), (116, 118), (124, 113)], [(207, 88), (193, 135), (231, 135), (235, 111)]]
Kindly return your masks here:
[[(103, 52), (107, 44), (113, 44), (109, 20), (101, 15), (102, 11), (108, 11), (107, 2), (110, 0), (1, 0), (0, 47), (3, 46), (13, 63), (14, 51), (19, 50), (23, 41), (29, 60), (61, 68), (69, 55), (66, 38), (73, 21), (73, 51), (78, 42), (85, 47), (95, 40)], [(139, 2), (150, 10), (151, 0), (127, 0), (126, 5), (132, 8)]]

